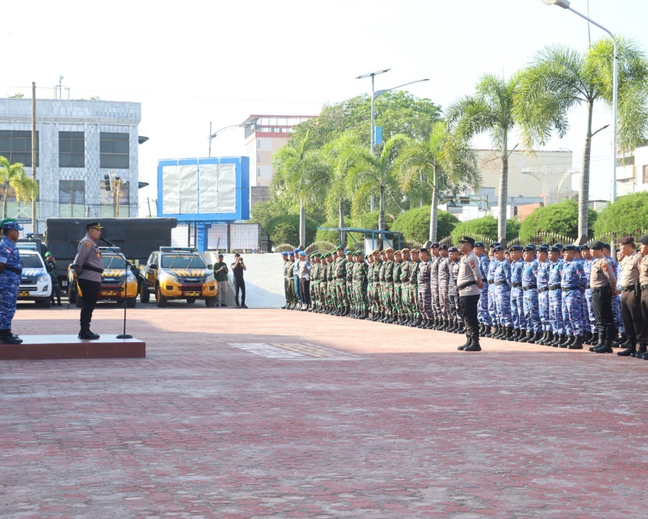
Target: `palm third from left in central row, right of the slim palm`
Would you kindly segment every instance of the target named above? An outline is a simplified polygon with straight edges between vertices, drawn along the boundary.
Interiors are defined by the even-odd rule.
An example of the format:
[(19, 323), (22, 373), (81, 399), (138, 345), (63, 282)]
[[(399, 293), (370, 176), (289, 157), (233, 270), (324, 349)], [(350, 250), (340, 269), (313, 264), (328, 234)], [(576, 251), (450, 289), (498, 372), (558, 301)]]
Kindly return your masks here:
[(395, 159), (408, 138), (396, 134), (385, 141), (379, 156), (371, 154), (365, 145), (352, 145), (343, 152), (342, 160), (349, 164), (345, 189), (351, 200), (351, 212), (358, 217), (371, 197), (378, 195), (378, 230), (385, 229), (385, 197), (398, 192)]

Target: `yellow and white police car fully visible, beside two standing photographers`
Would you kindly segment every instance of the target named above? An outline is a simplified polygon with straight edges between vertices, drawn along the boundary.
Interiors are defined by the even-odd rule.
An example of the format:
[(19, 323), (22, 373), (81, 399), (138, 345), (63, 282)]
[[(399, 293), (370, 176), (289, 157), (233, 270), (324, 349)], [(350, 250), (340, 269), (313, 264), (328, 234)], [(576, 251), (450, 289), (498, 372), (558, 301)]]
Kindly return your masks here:
[(205, 300), (209, 308), (216, 306), (216, 280), (213, 265), (205, 261), (192, 247), (160, 247), (154, 250), (141, 269), (139, 299), (146, 303), (155, 295), (157, 306), (167, 306), (169, 300), (185, 299), (195, 303)]

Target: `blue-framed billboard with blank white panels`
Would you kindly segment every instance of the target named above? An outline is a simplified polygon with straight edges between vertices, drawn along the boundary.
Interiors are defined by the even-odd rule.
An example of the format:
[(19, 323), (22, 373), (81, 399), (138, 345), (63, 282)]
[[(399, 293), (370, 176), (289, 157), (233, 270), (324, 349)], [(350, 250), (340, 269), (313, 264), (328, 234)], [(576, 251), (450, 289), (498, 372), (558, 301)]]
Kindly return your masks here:
[(182, 222), (249, 219), (249, 157), (157, 161), (157, 215)]

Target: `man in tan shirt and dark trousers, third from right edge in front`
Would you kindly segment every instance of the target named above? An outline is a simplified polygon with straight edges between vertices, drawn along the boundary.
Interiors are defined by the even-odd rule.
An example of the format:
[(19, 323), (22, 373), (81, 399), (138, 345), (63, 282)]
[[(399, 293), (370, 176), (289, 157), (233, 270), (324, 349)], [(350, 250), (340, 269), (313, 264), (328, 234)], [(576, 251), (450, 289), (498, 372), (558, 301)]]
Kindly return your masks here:
[[(591, 352), (612, 353), (612, 330), (614, 317), (612, 316), (612, 296), (617, 294), (616, 276), (612, 265), (603, 255), (603, 242), (593, 241), (590, 250), (594, 256), (590, 269), (590, 291), (592, 291), (592, 308), (596, 315), (601, 346), (590, 348)], [(636, 354), (634, 347), (628, 348), (619, 355), (629, 356)]]

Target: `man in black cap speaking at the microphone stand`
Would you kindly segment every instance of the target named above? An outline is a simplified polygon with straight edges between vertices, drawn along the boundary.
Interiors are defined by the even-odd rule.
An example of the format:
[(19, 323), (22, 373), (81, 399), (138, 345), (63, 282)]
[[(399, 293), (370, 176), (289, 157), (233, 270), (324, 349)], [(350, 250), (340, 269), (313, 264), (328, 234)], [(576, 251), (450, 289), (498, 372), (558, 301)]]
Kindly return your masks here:
[(97, 297), (101, 286), (101, 274), (104, 271), (104, 260), (101, 258), (101, 251), (97, 247), (97, 240), (101, 236), (103, 227), (98, 222), (91, 222), (86, 225), (87, 234), (79, 242), (74, 263), (75, 271), (73, 278), (81, 289), (80, 295), (83, 298), (81, 306), (81, 330), (79, 339), (98, 339), (97, 333), (90, 331), (92, 313), (97, 306)]

